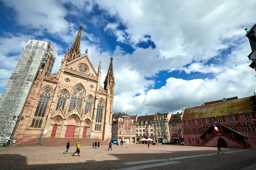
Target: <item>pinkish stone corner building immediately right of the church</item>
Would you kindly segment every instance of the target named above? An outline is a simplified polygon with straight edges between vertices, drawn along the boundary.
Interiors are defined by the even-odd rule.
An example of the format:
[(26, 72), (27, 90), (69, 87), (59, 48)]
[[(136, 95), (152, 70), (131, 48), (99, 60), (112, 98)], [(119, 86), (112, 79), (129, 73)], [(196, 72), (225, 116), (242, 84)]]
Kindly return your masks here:
[(126, 144), (136, 142), (136, 123), (126, 114), (113, 115), (112, 138), (124, 141)]

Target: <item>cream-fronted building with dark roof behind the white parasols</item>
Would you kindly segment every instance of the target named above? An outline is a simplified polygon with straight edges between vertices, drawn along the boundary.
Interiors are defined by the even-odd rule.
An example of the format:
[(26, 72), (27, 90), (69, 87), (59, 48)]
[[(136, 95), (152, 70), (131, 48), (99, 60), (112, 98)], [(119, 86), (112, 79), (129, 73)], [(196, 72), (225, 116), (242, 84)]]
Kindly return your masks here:
[(142, 138), (154, 140), (153, 120), (154, 115), (138, 116), (136, 121), (137, 142)]

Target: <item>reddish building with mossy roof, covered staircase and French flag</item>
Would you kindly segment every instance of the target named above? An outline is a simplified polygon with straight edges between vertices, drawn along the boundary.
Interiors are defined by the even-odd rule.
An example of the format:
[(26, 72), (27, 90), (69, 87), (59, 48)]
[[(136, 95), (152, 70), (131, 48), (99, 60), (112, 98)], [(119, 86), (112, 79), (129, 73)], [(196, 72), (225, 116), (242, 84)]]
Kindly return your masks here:
[(256, 96), (229, 98), (184, 109), (182, 130), (191, 146), (256, 147)]

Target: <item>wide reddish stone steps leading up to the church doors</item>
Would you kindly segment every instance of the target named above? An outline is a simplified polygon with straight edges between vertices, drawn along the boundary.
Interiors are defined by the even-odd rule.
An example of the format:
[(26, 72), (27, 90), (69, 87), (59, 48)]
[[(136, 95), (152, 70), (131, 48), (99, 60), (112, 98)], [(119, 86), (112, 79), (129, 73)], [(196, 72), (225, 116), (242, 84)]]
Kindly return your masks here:
[[(68, 141), (70, 141), (70, 146), (76, 146), (77, 141), (80, 140), (81, 146), (92, 146), (93, 142), (100, 141), (100, 145), (108, 145), (108, 141), (104, 141), (102, 139), (84, 139), (84, 138), (48, 138), (42, 137), (41, 144), (43, 146), (65, 146), (67, 145)], [(39, 138), (33, 138), (29, 141), (24, 143), (16, 143), (13, 146), (38, 146)]]

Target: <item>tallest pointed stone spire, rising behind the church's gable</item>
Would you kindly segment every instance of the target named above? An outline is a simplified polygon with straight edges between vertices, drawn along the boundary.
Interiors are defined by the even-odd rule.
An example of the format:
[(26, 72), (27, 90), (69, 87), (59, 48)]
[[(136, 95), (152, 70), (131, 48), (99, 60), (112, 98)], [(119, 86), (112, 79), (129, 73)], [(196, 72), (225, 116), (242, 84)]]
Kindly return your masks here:
[(68, 61), (72, 61), (81, 56), (81, 53), (80, 53), (81, 34), (82, 34), (82, 26), (80, 26), (80, 29), (76, 35), (76, 40), (74, 41), (68, 53)]

